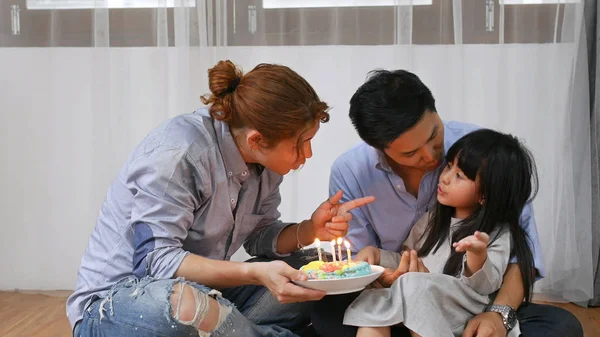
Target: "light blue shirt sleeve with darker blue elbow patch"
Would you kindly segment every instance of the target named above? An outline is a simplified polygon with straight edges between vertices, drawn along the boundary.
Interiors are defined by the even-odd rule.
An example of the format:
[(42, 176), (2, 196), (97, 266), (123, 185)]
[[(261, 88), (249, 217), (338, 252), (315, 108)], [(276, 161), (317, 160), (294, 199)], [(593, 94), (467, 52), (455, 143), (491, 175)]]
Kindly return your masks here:
[(181, 149), (157, 148), (132, 161), (133, 273), (172, 278), (188, 254), (181, 247), (199, 207), (202, 173)]

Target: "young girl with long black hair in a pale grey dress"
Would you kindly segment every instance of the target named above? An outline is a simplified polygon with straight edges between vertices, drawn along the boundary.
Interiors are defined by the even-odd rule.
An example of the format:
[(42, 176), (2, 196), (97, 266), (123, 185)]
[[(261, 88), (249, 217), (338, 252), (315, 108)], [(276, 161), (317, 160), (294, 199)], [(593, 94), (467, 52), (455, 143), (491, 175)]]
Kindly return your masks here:
[[(344, 317), (360, 327), (357, 336), (390, 336), (400, 323), (413, 336), (460, 336), (500, 289), (513, 255), (529, 300), (533, 257), (519, 216), (537, 187), (532, 155), (514, 137), (483, 129), (459, 139), (446, 162), (435, 209), (404, 242), (430, 273), (406, 273), (388, 289), (364, 291)], [(398, 266), (401, 254), (381, 253), (382, 266)], [(519, 333), (515, 326), (509, 336)]]

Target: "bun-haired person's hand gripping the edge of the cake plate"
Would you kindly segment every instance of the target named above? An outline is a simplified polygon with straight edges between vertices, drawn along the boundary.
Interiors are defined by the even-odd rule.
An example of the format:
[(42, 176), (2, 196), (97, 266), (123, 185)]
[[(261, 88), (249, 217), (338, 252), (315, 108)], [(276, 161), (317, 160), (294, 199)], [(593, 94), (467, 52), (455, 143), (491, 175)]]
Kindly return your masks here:
[(326, 293), (297, 286), (291, 280), (305, 281), (306, 273), (290, 267), (283, 261), (249, 263), (251, 277), (265, 286), (281, 303), (317, 301)]

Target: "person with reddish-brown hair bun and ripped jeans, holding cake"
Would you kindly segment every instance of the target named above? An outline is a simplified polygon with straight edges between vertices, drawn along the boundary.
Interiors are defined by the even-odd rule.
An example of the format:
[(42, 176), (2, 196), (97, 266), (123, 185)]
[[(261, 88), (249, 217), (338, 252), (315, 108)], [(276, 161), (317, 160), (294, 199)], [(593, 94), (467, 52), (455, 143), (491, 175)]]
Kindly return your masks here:
[(312, 156), (328, 106), (291, 69), (229, 61), (209, 72), (209, 109), (175, 117), (129, 156), (100, 210), (67, 301), (75, 336), (293, 336), (306, 275), (283, 261), (315, 238), (344, 236), (354, 207), (341, 192), (309, 220), (278, 220), (283, 175)]

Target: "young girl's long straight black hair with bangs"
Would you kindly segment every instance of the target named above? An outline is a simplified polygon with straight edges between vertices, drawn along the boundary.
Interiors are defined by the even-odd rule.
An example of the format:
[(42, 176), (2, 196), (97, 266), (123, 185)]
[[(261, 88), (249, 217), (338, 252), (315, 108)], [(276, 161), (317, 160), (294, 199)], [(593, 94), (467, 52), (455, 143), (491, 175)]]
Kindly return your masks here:
[[(535, 280), (533, 254), (529, 237), (519, 224), (525, 205), (537, 194), (538, 178), (533, 156), (518, 139), (489, 129), (471, 132), (459, 139), (446, 153), (446, 162), (453, 163), (458, 157), (458, 167), (471, 180), (479, 176), (483, 204), (463, 219), (452, 234), (452, 242), (473, 235), (475, 231), (491, 234), (507, 226), (513, 239), (511, 256), (516, 256), (525, 300), (530, 300)], [(448, 242), (450, 220), (454, 207), (436, 202), (432, 212), (427, 237), (419, 249), (419, 256), (435, 252)], [(499, 231), (500, 232), (500, 231)], [(499, 233), (498, 232), (498, 233)], [(496, 237), (491, 237), (493, 242)], [(444, 266), (444, 274), (457, 276), (465, 253), (452, 253)]]

